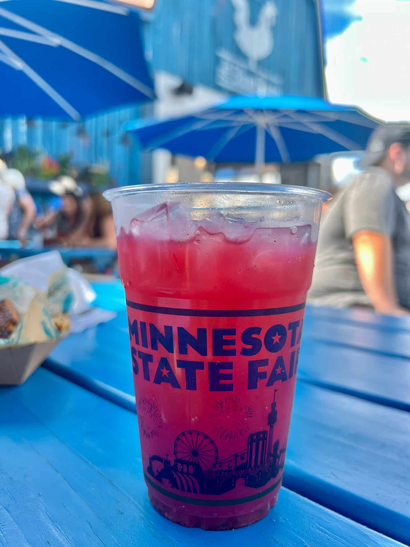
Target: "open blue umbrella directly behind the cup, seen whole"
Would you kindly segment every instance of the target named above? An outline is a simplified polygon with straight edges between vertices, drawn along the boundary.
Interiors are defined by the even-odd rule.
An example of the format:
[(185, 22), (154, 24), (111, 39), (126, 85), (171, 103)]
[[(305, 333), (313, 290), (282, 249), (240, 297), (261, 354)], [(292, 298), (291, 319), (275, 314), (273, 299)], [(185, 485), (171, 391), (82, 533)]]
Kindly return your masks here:
[(231, 97), (181, 118), (125, 125), (143, 148), (204, 156), (216, 163), (311, 160), (317, 154), (361, 150), (378, 122), (349, 106), (300, 96)]

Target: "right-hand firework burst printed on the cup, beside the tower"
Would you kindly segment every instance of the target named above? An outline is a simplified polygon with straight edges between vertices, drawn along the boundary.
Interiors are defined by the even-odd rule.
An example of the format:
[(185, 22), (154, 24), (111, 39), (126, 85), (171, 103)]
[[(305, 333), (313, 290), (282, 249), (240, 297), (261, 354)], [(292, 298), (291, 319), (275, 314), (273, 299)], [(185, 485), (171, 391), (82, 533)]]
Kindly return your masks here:
[(239, 397), (228, 395), (215, 401), (209, 417), (215, 422), (214, 432), (220, 439), (234, 440), (250, 431), (248, 418), (254, 415), (251, 406), (242, 404)]

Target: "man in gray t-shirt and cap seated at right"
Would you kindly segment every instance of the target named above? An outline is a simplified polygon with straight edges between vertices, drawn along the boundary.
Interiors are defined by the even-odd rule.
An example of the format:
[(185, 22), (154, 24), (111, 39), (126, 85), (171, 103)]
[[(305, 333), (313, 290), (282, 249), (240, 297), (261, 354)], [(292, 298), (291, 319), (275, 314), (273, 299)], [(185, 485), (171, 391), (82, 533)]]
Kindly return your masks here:
[(308, 302), (406, 315), (410, 216), (395, 190), (410, 180), (410, 127), (375, 130), (364, 164), (324, 214)]

